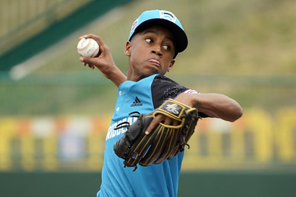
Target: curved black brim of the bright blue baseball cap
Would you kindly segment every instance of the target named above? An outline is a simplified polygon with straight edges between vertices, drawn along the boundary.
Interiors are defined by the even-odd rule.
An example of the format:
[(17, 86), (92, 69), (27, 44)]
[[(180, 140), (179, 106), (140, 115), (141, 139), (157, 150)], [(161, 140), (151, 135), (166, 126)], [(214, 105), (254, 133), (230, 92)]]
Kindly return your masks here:
[[(146, 27), (155, 26), (155, 25), (162, 26), (173, 33), (176, 40), (176, 53), (180, 53), (186, 49), (188, 45), (188, 40), (184, 30), (181, 29), (175, 23), (168, 21), (167, 19), (153, 18), (153, 19), (146, 20), (136, 27), (134, 34), (142, 31)], [(133, 36), (130, 37), (130, 40), (132, 37)]]

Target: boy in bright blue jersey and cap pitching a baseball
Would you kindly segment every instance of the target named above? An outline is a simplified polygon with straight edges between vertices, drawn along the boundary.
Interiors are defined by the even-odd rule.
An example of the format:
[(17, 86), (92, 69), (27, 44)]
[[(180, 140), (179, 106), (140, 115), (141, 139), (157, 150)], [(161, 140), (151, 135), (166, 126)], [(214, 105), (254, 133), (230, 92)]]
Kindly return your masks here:
[[(144, 132), (144, 137), (147, 136), (150, 139), (149, 136), (154, 135), (154, 128), (162, 124), (170, 125), (170, 128), (178, 128), (175, 131), (182, 131), (184, 134), (187, 132), (184, 129), (186, 120), (184, 123), (181, 118), (174, 117), (181, 117), (182, 113), (184, 114), (188, 109), (194, 111), (196, 108), (198, 118), (214, 117), (233, 122), (241, 117), (241, 106), (225, 95), (199, 93), (164, 76), (174, 66), (178, 53), (185, 50), (188, 43), (181, 23), (169, 11), (145, 11), (132, 24), (124, 49), (124, 53), (128, 57), (127, 77), (117, 68), (109, 48), (99, 36), (88, 34), (83, 37), (95, 39), (100, 45), (100, 53), (95, 58), (81, 57), (80, 61), (84, 66), (88, 64), (92, 69), (96, 66), (105, 77), (112, 80), (118, 87), (114, 113), (106, 134), (102, 184), (97, 196), (177, 196), (184, 151), (174, 149), (167, 154), (170, 155), (169, 157), (156, 158), (159, 155), (163, 156), (159, 149), (170, 146), (162, 143), (153, 151), (159, 152), (159, 154), (150, 156), (150, 158), (155, 156), (155, 159), (152, 160), (153, 164), (146, 165), (141, 160), (137, 160), (136, 163), (140, 164), (138, 166), (136, 163), (130, 164), (130, 161), (136, 161), (136, 159), (144, 157), (145, 154), (150, 154), (153, 146), (141, 151), (133, 150), (128, 158), (126, 153), (132, 149), (136, 142), (131, 139), (129, 128), (117, 127), (117, 125), (124, 123), (129, 126), (136, 122), (139, 116), (131, 117), (130, 112), (138, 111), (140, 114), (146, 114), (155, 109), (158, 111), (161, 109), (162, 113), (155, 115), (152, 122), (149, 122), (149, 126), (141, 127), (142, 122), (137, 122), (141, 127), (139, 132)], [(168, 101), (168, 99), (174, 100)], [(164, 103), (165, 106), (163, 106)], [(161, 107), (158, 108), (159, 106)], [(174, 116), (175, 112), (176, 116)], [(189, 113), (185, 113), (185, 116), (186, 114)], [(183, 124), (182, 128), (178, 126), (181, 124)], [(162, 129), (163, 135), (168, 135), (167, 131), (170, 128)], [(188, 129), (188, 127), (186, 128)], [(154, 138), (158, 140), (161, 135), (155, 134)], [(178, 134), (178, 136), (180, 135)], [(123, 151), (121, 150), (122, 143), (121, 147), (114, 146), (120, 140), (127, 144)], [(170, 142), (173, 144), (175, 141), (171, 140)], [(187, 140), (185, 141), (187, 142)], [(183, 141), (183, 145), (186, 144), (185, 141)], [(115, 154), (114, 151), (117, 153)], [(122, 155), (119, 156), (121, 153)]]

